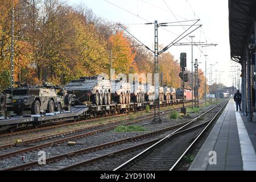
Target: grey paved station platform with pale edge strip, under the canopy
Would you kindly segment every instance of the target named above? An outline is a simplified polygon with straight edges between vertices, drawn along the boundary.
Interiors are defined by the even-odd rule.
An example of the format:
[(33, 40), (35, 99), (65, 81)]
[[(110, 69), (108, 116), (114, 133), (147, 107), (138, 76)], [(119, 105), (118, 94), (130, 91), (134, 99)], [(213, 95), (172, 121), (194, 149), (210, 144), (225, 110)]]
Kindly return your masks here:
[(256, 171), (255, 130), (256, 122), (247, 122), (230, 100), (189, 171)]

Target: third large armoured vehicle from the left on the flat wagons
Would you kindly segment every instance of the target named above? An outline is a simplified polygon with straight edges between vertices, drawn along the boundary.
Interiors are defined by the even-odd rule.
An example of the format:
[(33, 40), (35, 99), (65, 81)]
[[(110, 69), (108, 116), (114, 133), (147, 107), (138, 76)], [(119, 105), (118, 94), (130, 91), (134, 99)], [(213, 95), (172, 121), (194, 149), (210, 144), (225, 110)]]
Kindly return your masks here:
[(131, 85), (131, 100), (136, 103), (145, 102), (145, 93), (146, 90), (144, 85), (140, 84), (139, 82), (133, 82)]

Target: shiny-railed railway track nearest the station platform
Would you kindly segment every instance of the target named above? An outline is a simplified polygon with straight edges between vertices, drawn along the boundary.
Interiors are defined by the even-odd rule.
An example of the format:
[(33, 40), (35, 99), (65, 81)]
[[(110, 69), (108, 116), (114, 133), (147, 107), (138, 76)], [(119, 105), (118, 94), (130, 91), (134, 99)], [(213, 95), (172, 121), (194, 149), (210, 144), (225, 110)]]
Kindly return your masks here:
[[(227, 104), (228, 102), (226, 102)], [(212, 122), (221, 113), (221, 109), (208, 121), (199, 125), (189, 127), (185, 130), (177, 130), (167, 137), (156, 142), (140, 154), (134, 156), (121, 166), (114, 169), (118, 170), (173, 170), (181, 159), (195, 145), (199, 138), (205, 133)]]

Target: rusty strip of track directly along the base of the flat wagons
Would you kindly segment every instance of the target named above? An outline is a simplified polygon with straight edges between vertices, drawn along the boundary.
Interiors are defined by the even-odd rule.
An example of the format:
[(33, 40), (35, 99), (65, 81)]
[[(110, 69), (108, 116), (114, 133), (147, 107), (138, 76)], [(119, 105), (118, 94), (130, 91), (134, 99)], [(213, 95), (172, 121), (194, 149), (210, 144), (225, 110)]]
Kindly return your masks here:
[[(204, 103), (204, 102), (202, 102)], [(182, 104), (179, 104), (179, 105), (174, 105), (172, 106), (171, 109), (180, 109), (182, 106)], [(190, 104), (185, 104), (186, 107), (190, 106)], [(167, 107), (170, 107), (170, 106), (167, 106)], [(164, 108), (164, 107), (162, 107)], [(152, 111), (153, 109), (151, 109)], [(163, 111), (168, 111), (170, 109), (167, 109), (167, 110), (163, 110)], [(137, 111), (137, 113), (142, 113), (144, 112), (143, 111)], [(49, 130), (49, 129), (56, 129), (57, 127), (62, 127), (62, 126), (72, 126), (72, 125), (77, 125), (77, 124), (81, 124), (81, 123), (86, 123), (86, 122), (95, 122), (95, 121), (99, 121), (101, 119), (108, 119), (108, 118), (118, 118), (118, 117), (122, 117), (124, 115), (128, 115), (128, 114), (118, 114), (118, 115), (112, 115), (112, 116), (109, 116), (109, 117), (101, 117), (101, 118), (93, 118), (93, 119), (86, 119), (86, 120), (82, 120), (82, 121), (76, 121), (76, 122), (61, 122), (61, 123), (54, 123), (53, 125), (49, 125), (49, 126), (43, 126), (43, 127), (39, 127), (39, 128), (36, 128), (36, 129), (27, 129), (27, 128), (24, 128), (22, 130), (22, 128), (20, 129), (20, 131), (15, 131), (15, 132), (12, 132), (12, 133), (3, 133), (3, 134), (0, 134), (0, 139), (2, 137), (11, 137), (11, 136), (15, 136), (15, 135), (20, 135), (20, 134), (26, 134), (26, 133), (31, 133), (31, 132), (35, 132), (35, 131), (44, 131), (44, 130)], [(150, 114), (145, 114), (145, 115), (150, 115)]]

